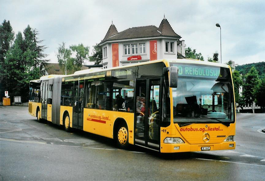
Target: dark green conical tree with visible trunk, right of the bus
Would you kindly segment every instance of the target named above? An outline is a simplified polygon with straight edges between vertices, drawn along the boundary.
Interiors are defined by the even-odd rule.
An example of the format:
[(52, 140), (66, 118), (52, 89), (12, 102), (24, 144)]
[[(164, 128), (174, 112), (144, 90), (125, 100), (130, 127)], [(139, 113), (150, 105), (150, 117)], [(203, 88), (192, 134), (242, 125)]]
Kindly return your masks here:
[(257, 85), (259, 84), (258, 71), (255, 69), (255, 67), (252, 67), (245, 77), (246, 78), (245, 78), (245, 83), (243, 85), (243, 95), (245, 97), (246, 103), (252, 105), (253, 113), (255, 113), (255, 110), (254, 110), (255, 94), (254, 94), (254, 92), (256, 91)]

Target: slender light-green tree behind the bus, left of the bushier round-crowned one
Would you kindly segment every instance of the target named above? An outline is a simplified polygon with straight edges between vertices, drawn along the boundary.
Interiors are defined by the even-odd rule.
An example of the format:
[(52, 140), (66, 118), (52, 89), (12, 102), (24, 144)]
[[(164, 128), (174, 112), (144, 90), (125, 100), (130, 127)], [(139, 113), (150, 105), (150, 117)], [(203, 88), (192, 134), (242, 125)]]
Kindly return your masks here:
[(71, 50), (65, 48), (65, 42), (62, 42), (62, 45), (59, 44), (57, 59), (60, 67), (65, 71), (65, 75), (73, 69), (71, 54)]

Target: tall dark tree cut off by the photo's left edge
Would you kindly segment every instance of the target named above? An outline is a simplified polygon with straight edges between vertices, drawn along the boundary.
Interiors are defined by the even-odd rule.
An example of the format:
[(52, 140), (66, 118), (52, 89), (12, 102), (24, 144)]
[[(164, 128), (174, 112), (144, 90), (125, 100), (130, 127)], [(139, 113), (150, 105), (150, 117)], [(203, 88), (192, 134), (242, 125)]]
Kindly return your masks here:
[(4, 97), (4, 90), (7, 90), (5, 82), (4, 70), (6, 69), (5, 58), (6, 52), (10, 49), (11, 43), (14, 39), (13, 28), (10, 21), (4, 20), (0, 25), (0, 98)]

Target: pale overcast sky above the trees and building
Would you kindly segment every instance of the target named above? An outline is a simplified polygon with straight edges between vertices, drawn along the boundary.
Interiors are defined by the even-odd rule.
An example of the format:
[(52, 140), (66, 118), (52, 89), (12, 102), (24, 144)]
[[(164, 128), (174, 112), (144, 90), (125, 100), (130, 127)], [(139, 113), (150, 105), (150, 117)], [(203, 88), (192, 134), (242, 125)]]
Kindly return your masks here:
[(0, 20), (10, 20), (16, 34), (28, 24), (36, 28), (51, 63), (57, 63), (62, 42), (67, 47), (83, 43), (90, 46), (91, 53), (112, 20), (118, 32), (137, 26), (159, 27), (164, 13), (186, 47), (196, 49), (207, 60), (215, 51), (220, 54), (220, 28), (215, 26), (219, 23), (222, 63), (233, 60), (242, 65), (265, 61), (264, 9), (264, 0), (0, 0)]

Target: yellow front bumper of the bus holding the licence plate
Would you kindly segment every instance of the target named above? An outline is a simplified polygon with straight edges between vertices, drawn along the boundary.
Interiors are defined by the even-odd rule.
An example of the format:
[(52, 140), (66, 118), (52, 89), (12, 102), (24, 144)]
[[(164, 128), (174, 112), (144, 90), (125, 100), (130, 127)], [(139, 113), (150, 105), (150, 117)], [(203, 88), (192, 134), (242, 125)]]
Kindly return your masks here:
[(208, 150), (234, 150), (236, 148), (236, 142), (222, 142), (213, 144), (194, 144), (187, 143), (181, 144), (168, 144), (161, 143), (161, 153), (178, 153), (178, 152), (193, 152), (193, 151), (208, 151)]

